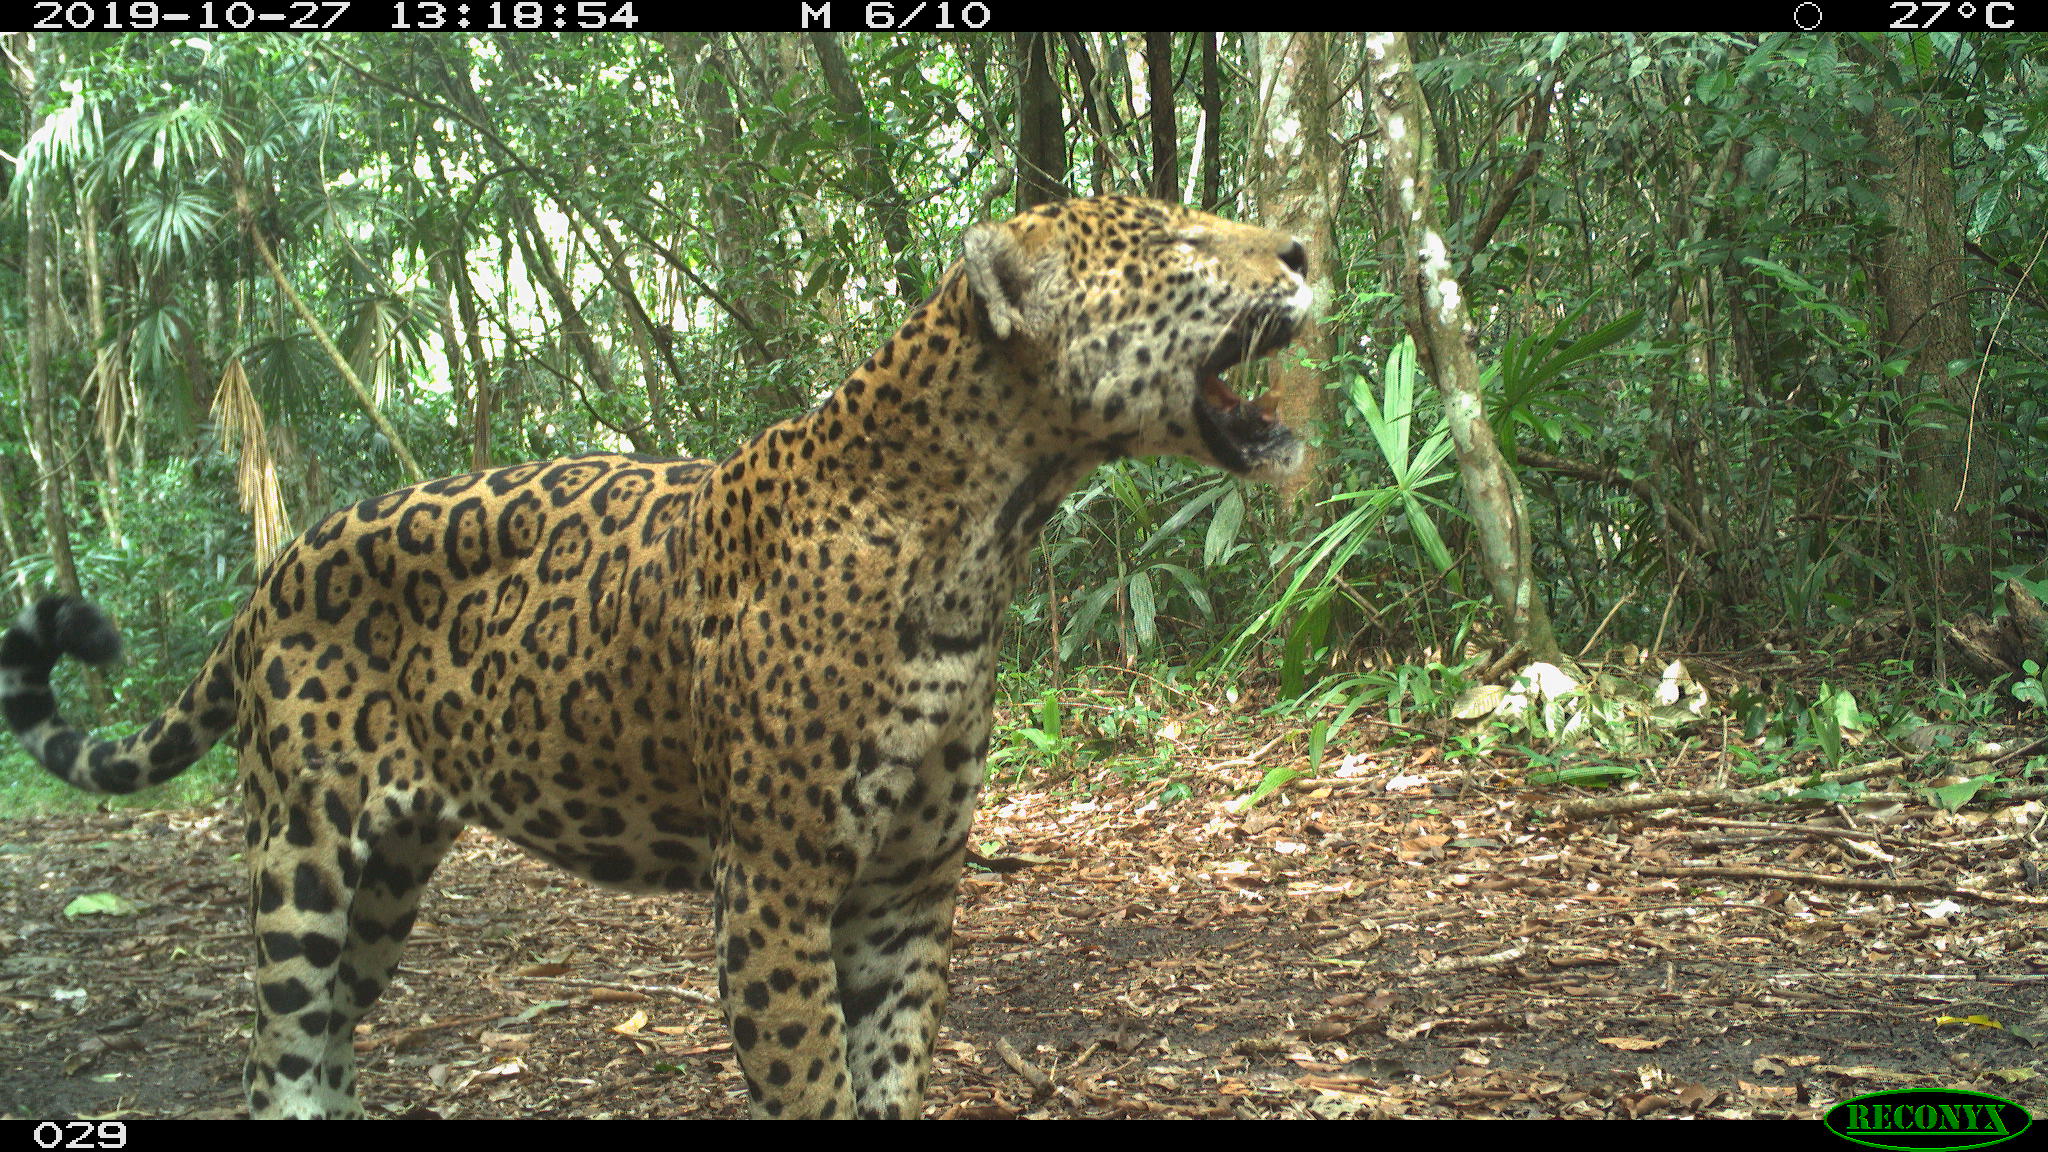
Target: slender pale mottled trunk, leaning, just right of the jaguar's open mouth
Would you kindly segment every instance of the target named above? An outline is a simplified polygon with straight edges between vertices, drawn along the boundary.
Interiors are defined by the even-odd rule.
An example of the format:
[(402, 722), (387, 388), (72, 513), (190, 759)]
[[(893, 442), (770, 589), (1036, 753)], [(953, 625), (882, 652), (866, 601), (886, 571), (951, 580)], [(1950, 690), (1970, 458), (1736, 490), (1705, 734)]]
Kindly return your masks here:
[(1559, 660), (1550, 613), (1536, 592), (1530, 560), (1528, 510), (1522, 486), (1501, 459), (1487, 422), (1473, 355), (1473, 320), (1464, 307), (1444, 236), (1436, 228), (1432, 166), (1423, 156), (1430, 109), (1409, 59), (1405, 33), (1368, 33), (1372, 113), (1386, 148), (1386, 232), (1401, 240), (1401, 295), (1415, 353), (1444, 398), (1450, 439), (1458, 449), (1458, 476), (1479, 529), (1479, 566), (1509, 640), (1534, 660)]

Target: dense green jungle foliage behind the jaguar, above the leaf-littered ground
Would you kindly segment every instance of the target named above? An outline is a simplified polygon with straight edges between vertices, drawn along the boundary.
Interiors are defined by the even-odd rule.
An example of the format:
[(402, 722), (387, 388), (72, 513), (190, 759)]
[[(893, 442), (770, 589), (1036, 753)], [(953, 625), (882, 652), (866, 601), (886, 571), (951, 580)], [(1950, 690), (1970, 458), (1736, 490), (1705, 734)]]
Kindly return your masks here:
[[(1217, 43), (1225, 76), (1243, 76), (1245, 41)], [(725, 455), (813, 404), (936, 285), (961, 230), (1006, 205), (1010, 174), (991, 158), (1016, 109), (1008, 41), (836, 45), (858, 107), (825, 88), (803, 43), (729, 33), (49, 41), (29, 131), (4, 119), (0, 154), (18, 156), (6, 203), (41, 213), (57, 248), (59, 443), (33, 453), (23, 422), (0, 430), (16, 461), (0, 469), (0, 566), (16, 599), (51, 580), (31, 461), (61, 461), (82, 578), (129, 635), (109, 678), (117, 713), (94, 719), (135, 722), (176, 693), (256, 576), (209, 412), (229, 365), (248, 373), (299, 527), (399, 482), (393, 445), (256, 258), (238, 182), (250, 223), (430, 471), (467, 469), (479, 439), (496, 463), (604, 447)], [(1075, 45), (1092, 53), (1085, 92)], [(1993, 592), (1980, 576), (2040, 564), (2048, 41), (1450, 33), (1417, 45), (1432, 195), (1561, 635), (1810, 650), (1896, 619), (1907, 660), (1888, 676), (1903, 683), (1925, 676), (1935, 625)], [(1346, 64), (1350, 43), (1329, 47)], [(1087, 131), (1057, 176), (1077, 189), (1149, 176), (1139, 121), (1108, 113), (1137, 107), (1124, 51), (1116, 35), (1061, 41), (1075, 66), (1057, 70), (1065, 107)], [(1356, 72), (1331, 72), (1337, 139), (1370, 129)], [(1221, 125), (1192, 115), (1184, 84), (1180, 156), (1202, 123), (1223, 129), (1221, 152), (1202, 154), (1221, 187), (1288, 176), (1266, 170), (1233, 84)], [(1948, 369), (1966, 400), (1919, 379), (1917, 336), (1894, 344), (1888, 330), (1876, 252), (1913, 213), (1894, 217), (1907, 182), (1880, 148), (1882, 117), (1954, 178), (1954, 203), (1921, 215), (1962, 221), (1964, 289), (1935, 307), (1964, 310), (1970, 353)], [(1376, 187), (1362, 168), (1321, 176)], [(1047, 695), (1030, 681), (1044, 668), (1243, 676), (1331, 746), (1360, 709), (1440, 719), (1466, 687), (1487, 609), (1468, 588), (1454, 449), (1413, 348), (1391, 338), (1401, 297), (1372, 240), (1378, 205), (1346, 197), (1341, 211), (1315, 252), (1335, 361), (1309, 510), (1186, 461), (1094, 476), (1051, 521), (1012, 615), (1004, 662), (1032, 699), (1018, 734), (999, 736), (1012, 773), (1153, 771), (1133, 750), (1139, 705), (1100, 687)], [(25, 230), (0, 230), (0, 400), (16, 410), (23, 269)], [(100, 361), (109, 396), (84, 383)], [(1915, 445), (1929, 433), (1960, 435), (1972, 476), (1997, 478), (1987, 506), (1923, 484)], [(1538, 451), (1563, 467), (1532, 467)], [(1976, 512), (1985, 529), (1958, 531)], [(2030, 668), (1995, 689), (1925, 685), (1919, 703), (1958, 724), (2015, 707), (2040, 717), (2042, 683)], [(82, 685), (61, 687), (84, 707)], [(1759, 773), (1843, 763), (1866, 732), (1851, 726), (1858, 699), (1884, 701), (1862, 683), (1853, 697), (1737, 691), (1731, 715), (1755, 744), (1726, 754)], [(1559, 744), (1665, 738), (1599, 709), (1575, 722), (1567, 732), (1573, 719), (1538, 709), (1460, 740), (1470, 754), (1522, 744), (1559, 779), (1614, 779)]]

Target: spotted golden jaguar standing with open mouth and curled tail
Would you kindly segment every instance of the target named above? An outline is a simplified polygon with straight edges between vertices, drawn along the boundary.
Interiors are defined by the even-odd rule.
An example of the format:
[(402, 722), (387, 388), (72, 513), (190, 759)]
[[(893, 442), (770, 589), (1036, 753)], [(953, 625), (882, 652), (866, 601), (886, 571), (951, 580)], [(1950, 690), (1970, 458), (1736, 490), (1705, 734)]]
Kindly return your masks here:
[(817, 410), (723, 463), (588, 455), (334, 512), (176, 705), (94, 740), (49, 693), (119, 642), (51, 599), (0, 705), (55, 775), (164, 781), (233, 732), (258, 1117), (356, 1115), (356, 1019), (465, 824), (600, 883), (709, 888), (758, 1115), (915, 1115), (989, 744), (997, 625), (1098, 463), (1253, 478), (1294, 435), (1219, 373), (1309, 307), (1296, 242), (1096, 199), (983, 223)]

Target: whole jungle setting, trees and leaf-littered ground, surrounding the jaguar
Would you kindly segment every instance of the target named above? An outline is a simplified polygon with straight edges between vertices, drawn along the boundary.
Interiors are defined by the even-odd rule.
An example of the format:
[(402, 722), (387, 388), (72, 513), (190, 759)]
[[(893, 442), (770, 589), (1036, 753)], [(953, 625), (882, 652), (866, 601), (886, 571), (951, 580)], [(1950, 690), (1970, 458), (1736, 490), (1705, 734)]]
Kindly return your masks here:
[[(1065, 195), (1155, 195), (1307, 242), (1319, 322), (1266, 383), (1309, 433), (1311, 465), (1266, 490), (1180, 459), (1120, 461), (1049, 523), (1006, 635), (977, 832), (991, 871), (963, 910), (961, 982), (983, 980), (977, 941), (979, 963), (993, 947), (1004, 972), (1020, 957), (1075, 968), (1036, 953), (1071, 935), (1044, 924), (1075, 908), (1102, 935), (1083, 955), (1143, 951), (1163, 918), (1196, 941), (1186, 955), (1206, 982), (1161, 978), (1151, 996), (1143, 980), (1094, 986), (1087, 970), (1114, 963), (1081, 963), (1067, 992), (991, 974), (1004, 1011), (1047, 1021), (989, 1023), (967, 994), (940, 1111), (1802, 1115), (1866, 1091), (1868, 1068), (1839, 1072), (1864, 1068), (1839, 1047), (1745, 1056), (1747, 1078), (1720, 1082), (1724, 1043), (1694, 1033), (1677, 1047), (1696, 1066), (1647, 1076), (1640, 1058), (1626, 1084), (1585, 1082), (1620, 1074), (1616, 1052), (1663, 1045), (1636, 1025), (1614, 1035), (1640, 1043), (1597, 1037), (1604, 1011), (1665, 996), (1675, 1006), (1657, 1019), (1683, 1029), (1757, 1011), (1729, 992), (1694, 1019), (1700, 1000), (1673, 992), (1671, 955), (1708, 963), (1729, 947), (1724, 906), (1769, 924), (1737, 933), (1743, 965), (1804, 949), (1819, 970), (1849, 947), (1843, 963), (1874, 984), (1868, 1004), (1817, 992), (1810, 1011), (1847, 1029), (1831, 1043), (1925, 1056), (1901, 1076), (2038, 1068), (2048, 37), (8, 33), (0, 49), (0, 402), (16, 414), (0, 420), (0, 601), (84, 590), (121, 623), (121, 664), (59, 674), (82, 724), (135, 726), (174, 699), (264, 560), (326, 510), (592, 449), (725, 455), (836, 387), (973, 221)], [(231, 773), (215, 750), (168, 795), (119, 801), (147, 808), (125, 810), (111, 845), (88, 810), (100, 797), (6, 748), (0, 896), (16, 927), (0, 929), (0, 1050), (14, 1086), (0, 1105), (14, 1115), (133, 1103), (121, 1093), (147, 1068), (92, 1076), (186, 1039), (231, 1082), (223, 1035), (244, 1000), (215, 996), (240, 963), (233, 838), (213, 828), (233, 816), (215, 804)], [(1708, 808), (1769, 820), (1731, 830), (1745, 822), (1698, 816)], [(166, 840), (193, 875), (225, 879), (152, 875)], [(1714, 871), (1702, 842), (1772, 867)], [(991, 896), (975, 927), (975, 886), (1057, 871), (1083, 847), (1128, 869), (1059, 883), (1155, 898), (1006, 888), (1014, 904)], [(1776, 867), (1808, 853), (1841, 875)], [(465, 867), (442, 883), (461, 892)], [(1587, 886), (1606, 869), (1632, 879)], [(1464, 888), (1477, 873), (1526, 883)], [(522, 916), (502, 883), (473, 883), (465, 914)], [(1520, 924), (1505, 937), (1528, 945), (1597, 916), (1538, 916), (1511, 904), (1518, 886), (1567, 904), (1632, 892), (1628, 912), (1597, 916), (1647, 916), (1626, 933), (1636, 943), (1595, 951), (1640, 963), (1645, 982), (1532, 984), (1530, 965), (1583, 968), (1593, 945), (1507, 955), (1485, 924), (1505, 914)], [(113, 902), (80, 906), (88, 896)], [(80, 1047), (82, 1009), (47, 984), (106, 963), (111, 937), (115, 959), (211, 949), (180, 927), (195, 900), (219, 916), (213, 984), (150, 984), (152, 1011), (115, 1013), (182, 1017), (184, 1031), (166, 1023), (143, 1050), (98, 1031)], [(602, 896), (573, 900), (586, 937), (621, 918)], [(1298, 935), (1249, 927), (1288, 908)], [(1987, 908), (1993, 927), (1972, 920)], [(1817, 935), (1815, 914), (1833, 927)], [(1249, 937), (1229, 935), (1239, 918)], [(1640, 943), (1657, 933), (1686, 943)], [(428, 922), (420, 949), (440, 941)], [(446, 947), (467, 945), (449, 933)], [(1403, 1013), (1442, 1009), (1452, 992), (1430, 982), (1466, 968), (1432, 965), (1460, 947), (1483, 961), (1470, 970), (1579, 1000), (1417, 1025)], [(532, 945), (518, 972), (559, 951)], [(590, 943), (586, 959), (604, 951)], [(1909, 953), (1925, 968), (1870, 976), (1872, 957)], [(408, 959), (430, 963), (504, 970)], [(1323, 976), (1296, 980), (1296, 965)], [(1427, 994), (1346, 984), (1389, 965)], [(1886, 984), (1948, 988), (1956, 965), (2003, 982), (1942, 1011)], [(1249, 982), (1227, 992), (1221, 970)], [(135, 980), (133, 965), (106, 980)], [(608, 986), (616, 996), (578, 1004), (647, 994)], [(436, 988), (418, 1002), (473, 992), (446, 976)], [(1317, 996), (1307, 1017), (1288, 1006), (1303, 988)], [(205, 1009), (164, 1011), (186, 992)], [(1487, 994), (1505, 996), (1466, 988), (1460, 1002)], [(1087, 1004), (1114, 1027), (1075, 1041), (1051, 1023)], [(1186, 1004), (1229, 1021), (1188, 1025), (1227, 1039), (1198, 1072), (1176, 1072), (1178, 1041), (1147, 1031), (1186, 1023)], [(195, 1025), (215, 1013), (223, 1023)], [(1978, 1023), (1956, 1033), (1935, 1017)], [(1487, 1029), (1583, 1050), (1548, 1047), (1503, 1088), (1505, 1066), (1473, 1056), (1520, 1041)], [(475, 1025), (467, 1039), (504, 1035)], [(1366, 1056), (1366, 1035), (1456, 1039), (1415, 1070)], [(707, 1029), (690, 1043), (719, 1041)], [(610, 1082), (600, 1068), (618, 1058), (582, 1074)], [(449, 1060), (461, 1066), (420, 1064), (418, 1093), (442, 1115), (594, 1107), (508, 1086), (575, 1070), (477, 1082)], [(729, 1068), (705, 1076), (733, 1084)], [(186, 1080), (141, 1097), (233, 1111), (231, 1084)], [(2040, 1088), (2021, 1074), (1987, 1091)], [(668, 1111), (690, 1097), (649, 1093)], [(635, 1115), (621, 1099), (602, 1103)]]

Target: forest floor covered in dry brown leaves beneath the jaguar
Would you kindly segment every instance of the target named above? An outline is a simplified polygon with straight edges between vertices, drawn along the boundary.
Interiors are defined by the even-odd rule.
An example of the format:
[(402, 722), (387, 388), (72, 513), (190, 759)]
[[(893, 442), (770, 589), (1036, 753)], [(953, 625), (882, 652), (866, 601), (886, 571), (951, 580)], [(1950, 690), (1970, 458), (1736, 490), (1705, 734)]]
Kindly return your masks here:
[[(965, 881), (928, 1115), (1815, 1117), (1931, 1086), (2048, 1111), (2038, 801), (1573, 820), (1579, 793), (1423, 742), (1239, 810), (1262, 746), (1180, 748), (1165, 806), (1110, 763), (991, 789), (977, 849), (1034, 863)], [(1718, 773), (1696, 750), (1651, 787)], [(242, 1113), (240, 847), (231, 801), (0, 824), (0, 1117)], [(68, 914), (96, 894), (133, 908)], [(705, 900), (471, 830), (358, 1031), (367, 1107), (743, 1115), (711, 957)]]

